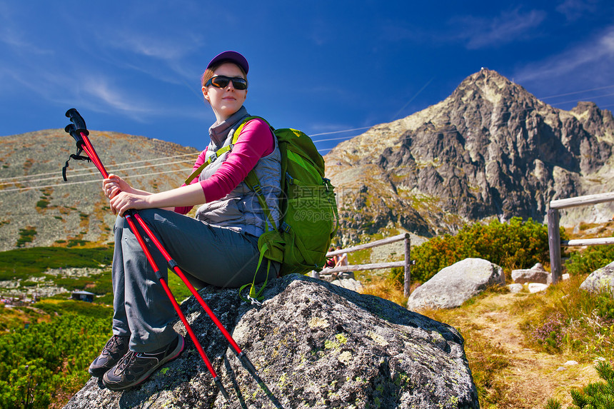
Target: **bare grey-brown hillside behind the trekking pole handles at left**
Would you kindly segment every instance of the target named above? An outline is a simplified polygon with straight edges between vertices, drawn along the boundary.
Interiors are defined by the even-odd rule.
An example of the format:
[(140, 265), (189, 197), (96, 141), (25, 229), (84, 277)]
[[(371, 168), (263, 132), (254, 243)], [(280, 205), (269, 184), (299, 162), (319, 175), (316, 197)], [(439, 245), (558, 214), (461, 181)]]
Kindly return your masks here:
[[(181, 186), (198, 150), (116, 132), (90, 132), (109, 173), (147, 191)], [(201, 148), (204, 148), (202, 146)], [(0, 251), (14, 248), (104, 246), (115, 216), (92, 163), (70, 161), (76, 146), (64, 129), (0, 138)]]

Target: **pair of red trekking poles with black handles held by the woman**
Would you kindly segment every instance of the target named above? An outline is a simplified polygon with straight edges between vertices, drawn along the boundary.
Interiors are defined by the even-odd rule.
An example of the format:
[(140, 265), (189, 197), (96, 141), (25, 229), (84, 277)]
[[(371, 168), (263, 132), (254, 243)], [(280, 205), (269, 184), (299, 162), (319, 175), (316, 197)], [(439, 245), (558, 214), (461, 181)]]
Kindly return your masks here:
[[(77, 146), (77, 153), (76, 155), (71, 155), (71, 158), (74, 158), (77, 160), (86, 160), (86, 161), (94, 162), (94, 166), (98, 168), (102, 176), (104, 178), (108, 178), (109, 173), (107, 173), (98, 154), (94, 150), (94, 146), (92, 146), (91, 142), (89, 141), (89, 138), (88, 138), (89, 131), (86, 128), (84, 118), (81, 117), (81, 115), (79, 114), (79, 112), (76, 111), (75, 108), (69, 109), (69, 111), (66, 112), (66, 116), (70, 118), (72, 123), (66, 126), (64, 130), (67, 133), (71, 134), (71, 136), (75, 139), (76, 146)], [(87, 156), (81, 156), (81, 152), (83, 151), (87, 154)], [(62, 175), (64, 176), (64, 181), (66, 181), (66, 168), (68, 168), (68, 166), (69, 166), (68, 161), (66, 161), (66, 165), (62, 169)], [(186, 330), (188, 334), (190, 335), (190, 338), (192, 339), (194, 345), (196, 345), (196, 349), (198, 350), (198, 353), (201, 355), (201, 358), (203, 358), (205, 365), (207, 365), (207, 368), (209, 372), (211, 373), (211, 376), (213, 376), (213, 382), (216, 383), (216, 385), (218, 386), (224, 398), (228, 400), (228, 393), (226, 393), (226, 390), (224, 389), (221, 383), (221, 380), (216, 374), (216, 370), (213, 368), (213, 365), (211, 365), (211, 361), (207, 358), (207, 355), (205, 351), (203, 350), (201, 343), (198, 342), (196, 335), (194, 335), (192, 328), (190, 327), (190, 324), (188, 323), (188, 320), (186, 320), (186, 316), (183, 315), (183, 313), (181, 312), (181, 308), (179, 308), (177, 301), (173, 297), (173, 293), (171, 293), (171, 289), (168, 288), (168, 284), (164, 280), (161, 270), (156, 265), (154, 258), (151, 256), (151, 252), (149, 251), (149, 248), (147, 247), (145, 241), (143, 240), (143, 236), (141, 236), (139, 229), (136, 227), (136, 224), (132, 220), (133, 217), (137, 221), (137, 223), (139, 223), (139, 226), (141, 226), (146, 236), (148, 236), (151, 239), (151, 242), (154, 243), (156, 248), (158, 248), (158, 251), (162, 253), (164, 258), (166, 259), (166, 262), (168, 263), (168, 267), (171, 268), (177, 274), (177, 276), (179, 276), (179, 278), (181, 278), (181, 281), (183, 281), (183, 283), (186, 284), (186, 286), (188, 287), (190, 292), (193, 294), (193, 296), (196, 298), (198, 303), (201, 304), (203, 309), (206, 311), (207, 315), (209, 315), (211, 320), (213, 320), (213, 323), (215, 323), (218, 329), (221, 330), (221, 333), (223, 333), (224, 337), (226, 337), (226, 340), (228, 340), (228, 343), (231, 344), (233, 350), (235, 351), (237, 355), (238, 360), (241, 361), (241, 364), (243, 365), (243, 367), (246, 368), (246, 370), (248, 370), (249, 373), (251, 373), (253, 378), (256, 379), (258, 383), (261, 383), (261, 378), (256, 373), (256, 368), (253, 366), (253, 364), (251, 363), (247, 355), (241, 350), (241, 348), (239, 348), (235, 340), (233, 340), (231, 334), (228, 333), (228, 330), (224, 328), (223, 324), (217, 318), (215, 313), (213, 313), (211, 308), (209, 308), (209, 306), (203, 300), (203, 298), (198, 293), (198, 291), (196, 291), (196, 288), (194, 288), (194, 286), (192, 286), (192, 284), (188, 281), (188, 279), (183, 274), (183, 271), (181, 271), (181, 268), (179, 268), (176, 261), (174, 261), (173, 258), (171, 258), (171, 255), (168, 254), (168, 251), (166, 251), (166, 248), (164, 248), (162, 243), (160, 243), (158, 238), (155, 236), (154, 232), (151, 231), (149, 226), (147, 226), (147, 223), (145, 223), (143, 218), (139, 216), (139, 213), (136, 210), (129, 210), (126, 213), (124, 213), (124, 217), (126, 218), (126, 222), (130, 226), (131, 231), (134, 233), (134, 236), (136, 236), (137, 241), (139, 241), (139, 244), (141, 245), (141, 248), (143, 249), (146, 258), (149, 261), (151, 268), (154, 269), (154, 272), (156, 273), (156, 277), (158, 278), (162, 287), (164, 288), (164, 291), (166, 292), (168, 299), (173, 304), (173, 307), (175, 308), (177, 315), (179, 315), (179, 318), (181, 318), (181, 322), (186, 327)]]

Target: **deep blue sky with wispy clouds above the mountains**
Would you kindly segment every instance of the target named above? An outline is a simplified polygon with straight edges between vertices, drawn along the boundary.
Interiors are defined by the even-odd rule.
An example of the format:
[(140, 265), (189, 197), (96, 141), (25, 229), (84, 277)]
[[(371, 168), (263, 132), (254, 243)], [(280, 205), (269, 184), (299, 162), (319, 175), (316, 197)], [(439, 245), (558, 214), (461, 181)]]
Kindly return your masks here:
[(614, 106), (611, 0), (0, 0), (0, 136), (63, 128), (74, 107), (90, 129), (202, 149), (199, 78), (227, 49), (249, 61), (248, 111), (322, 153), (482, 66), (557, 108)]

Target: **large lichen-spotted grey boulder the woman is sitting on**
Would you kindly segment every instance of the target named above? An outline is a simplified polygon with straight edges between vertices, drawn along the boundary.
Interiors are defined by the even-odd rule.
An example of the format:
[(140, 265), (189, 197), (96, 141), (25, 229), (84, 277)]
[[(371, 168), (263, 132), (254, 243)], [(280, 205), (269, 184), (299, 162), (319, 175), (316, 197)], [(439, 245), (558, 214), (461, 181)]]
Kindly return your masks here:
[[(179, 358), (136, 388), (111, 392), (92, 378), (66, 408), (479, 408), (460, 333), (395, 303), (298, 275), (273, 281), (261, 307), (233, 289), (201, 295), (262, 387), (190, 298), (181, 309), (230, 402), (188, 340)], [(181, 323), (176, 329), (185, 333)]]

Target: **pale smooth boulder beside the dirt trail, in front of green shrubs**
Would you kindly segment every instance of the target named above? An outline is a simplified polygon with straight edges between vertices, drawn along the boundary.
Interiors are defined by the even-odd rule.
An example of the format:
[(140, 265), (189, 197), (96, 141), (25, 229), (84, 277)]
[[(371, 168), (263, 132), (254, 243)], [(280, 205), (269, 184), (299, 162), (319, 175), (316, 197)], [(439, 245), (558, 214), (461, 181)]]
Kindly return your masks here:
[(481, 258), (465, 258), (439, 271), (409, 296), (407, 308), (454, 308), (490, 286), (505, 286), (503, 268)]

